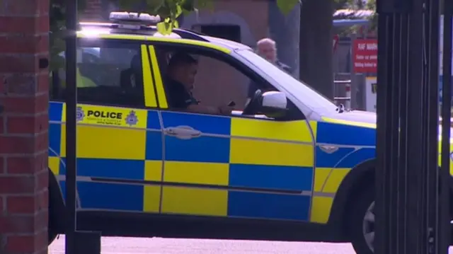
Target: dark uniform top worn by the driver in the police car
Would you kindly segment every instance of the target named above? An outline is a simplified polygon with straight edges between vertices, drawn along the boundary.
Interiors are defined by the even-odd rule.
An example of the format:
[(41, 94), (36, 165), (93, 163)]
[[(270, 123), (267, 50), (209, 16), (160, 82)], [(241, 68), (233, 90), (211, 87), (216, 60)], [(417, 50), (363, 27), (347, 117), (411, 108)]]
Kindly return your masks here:
[(171, 108), (185, 109), (189, 105), (197, 105), (198, 101), (193, 98), (184, 85), (174, 79), (166, 78), (168, 105)]

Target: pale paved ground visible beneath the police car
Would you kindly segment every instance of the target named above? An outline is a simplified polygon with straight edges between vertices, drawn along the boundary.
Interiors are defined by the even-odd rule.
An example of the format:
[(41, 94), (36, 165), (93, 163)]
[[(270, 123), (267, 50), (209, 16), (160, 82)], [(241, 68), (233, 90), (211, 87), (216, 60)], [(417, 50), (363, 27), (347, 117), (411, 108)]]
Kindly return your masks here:
[[(166, 238), (105, 237), (102, 254), (355, 254), (344, 243), (284, 243)], [(453, 254), (453, 248), (449, 253)], [(50, 246), (50, 254), (64, 254), (64, 236)]]

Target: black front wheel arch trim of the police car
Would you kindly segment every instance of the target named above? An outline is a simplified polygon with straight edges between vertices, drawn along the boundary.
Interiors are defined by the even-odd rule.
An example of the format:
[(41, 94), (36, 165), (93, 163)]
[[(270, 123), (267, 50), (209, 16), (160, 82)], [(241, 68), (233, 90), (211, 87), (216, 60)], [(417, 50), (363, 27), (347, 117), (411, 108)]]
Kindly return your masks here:
[(354, 200), (355, 195), (359, 195), (363, 188), (374, 185), (376, 159), (371, 158), (364, 161), (354, 168), (345, 176), (338, 187), (333, 200), (331, 215), (328, 224), (333, 226), (338, 233), (345, 231), (345, 214), (348, 211), (350, 202)]

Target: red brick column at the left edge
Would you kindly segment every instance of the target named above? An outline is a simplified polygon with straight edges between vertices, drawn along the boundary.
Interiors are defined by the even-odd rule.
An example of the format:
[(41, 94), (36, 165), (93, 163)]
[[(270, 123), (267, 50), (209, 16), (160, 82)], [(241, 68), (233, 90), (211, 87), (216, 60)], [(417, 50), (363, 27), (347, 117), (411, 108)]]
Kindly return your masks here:
[(0, 253), (47, 253), (48, 9), (0, 4)]

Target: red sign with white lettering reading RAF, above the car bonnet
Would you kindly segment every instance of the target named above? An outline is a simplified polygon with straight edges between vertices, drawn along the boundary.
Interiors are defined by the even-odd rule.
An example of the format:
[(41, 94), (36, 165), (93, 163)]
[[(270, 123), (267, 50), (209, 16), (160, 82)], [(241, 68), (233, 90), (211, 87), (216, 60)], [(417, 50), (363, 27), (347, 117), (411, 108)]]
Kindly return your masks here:
[(352, 61), (355, 73), (377, 73), (377, 40), (354, 40)]

